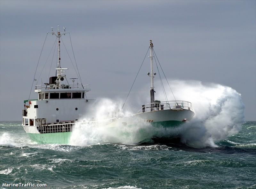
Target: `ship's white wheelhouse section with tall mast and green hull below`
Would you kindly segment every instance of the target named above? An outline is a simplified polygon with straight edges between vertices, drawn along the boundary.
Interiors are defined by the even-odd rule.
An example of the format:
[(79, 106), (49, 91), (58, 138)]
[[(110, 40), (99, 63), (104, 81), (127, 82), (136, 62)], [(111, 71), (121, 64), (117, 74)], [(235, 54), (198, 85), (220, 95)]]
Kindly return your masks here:
[(78, 78), (70, 78), (70, 82), (66, 76), (68, 68), (60, 67), (60, 38), (67, 34), (65, 28), (61, 33), (58, 26), (58, 31), (50, 34), (58, 40), (56, 75), (49, 78), (49, 83), (36, 85), (37, 99), (24, 100), (22, 126), (30, 138), (39, 143), (65, 143), (68, 141), (67, 133), (72, 131), (75, 122), (82, 121), (94, 100), (86, 97), (86, 92), (91, 90), (90, 85), (75, 83)]

